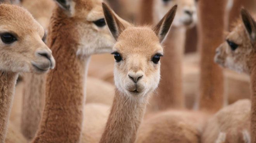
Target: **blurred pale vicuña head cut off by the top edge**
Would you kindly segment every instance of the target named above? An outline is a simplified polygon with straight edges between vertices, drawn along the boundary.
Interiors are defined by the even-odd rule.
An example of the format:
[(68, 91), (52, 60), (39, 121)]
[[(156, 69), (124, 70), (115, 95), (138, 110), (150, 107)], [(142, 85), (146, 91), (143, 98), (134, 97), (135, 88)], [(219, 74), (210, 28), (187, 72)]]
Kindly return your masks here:
[(173, 21), (173, 26), (194, 26), (197, 21), (195, 0), (155, 0), (154, 2), (154, 14), (156, 22), (170, 10), (174, 5), (178, 5), (179, 8), (176, 12), (176, 18)]

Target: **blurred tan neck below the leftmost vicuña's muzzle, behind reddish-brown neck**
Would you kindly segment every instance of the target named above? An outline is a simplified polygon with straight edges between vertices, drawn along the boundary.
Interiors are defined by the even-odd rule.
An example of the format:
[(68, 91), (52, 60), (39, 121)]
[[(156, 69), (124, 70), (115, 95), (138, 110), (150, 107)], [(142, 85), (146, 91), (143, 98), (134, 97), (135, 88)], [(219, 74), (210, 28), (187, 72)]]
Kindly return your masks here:
[(45, 100), (46, 74), (24, 74), (21, 131), (31, 140), (38, 130)]

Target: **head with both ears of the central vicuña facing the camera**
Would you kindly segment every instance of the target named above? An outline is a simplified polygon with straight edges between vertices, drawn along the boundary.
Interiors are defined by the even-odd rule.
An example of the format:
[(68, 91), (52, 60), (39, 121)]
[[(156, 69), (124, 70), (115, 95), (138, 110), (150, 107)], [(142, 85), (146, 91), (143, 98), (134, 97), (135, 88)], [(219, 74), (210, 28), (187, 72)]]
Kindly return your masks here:
[(116, 87), (128, 96), (144, 96), (158, 86), (163, 56), (161, 42), (169, 31), (177, 6), (154, 28), (135, 27), (115, 16), (106, 4), (103, 3), (103, 7), (107, 25), (116, 39), (113, 47)]

